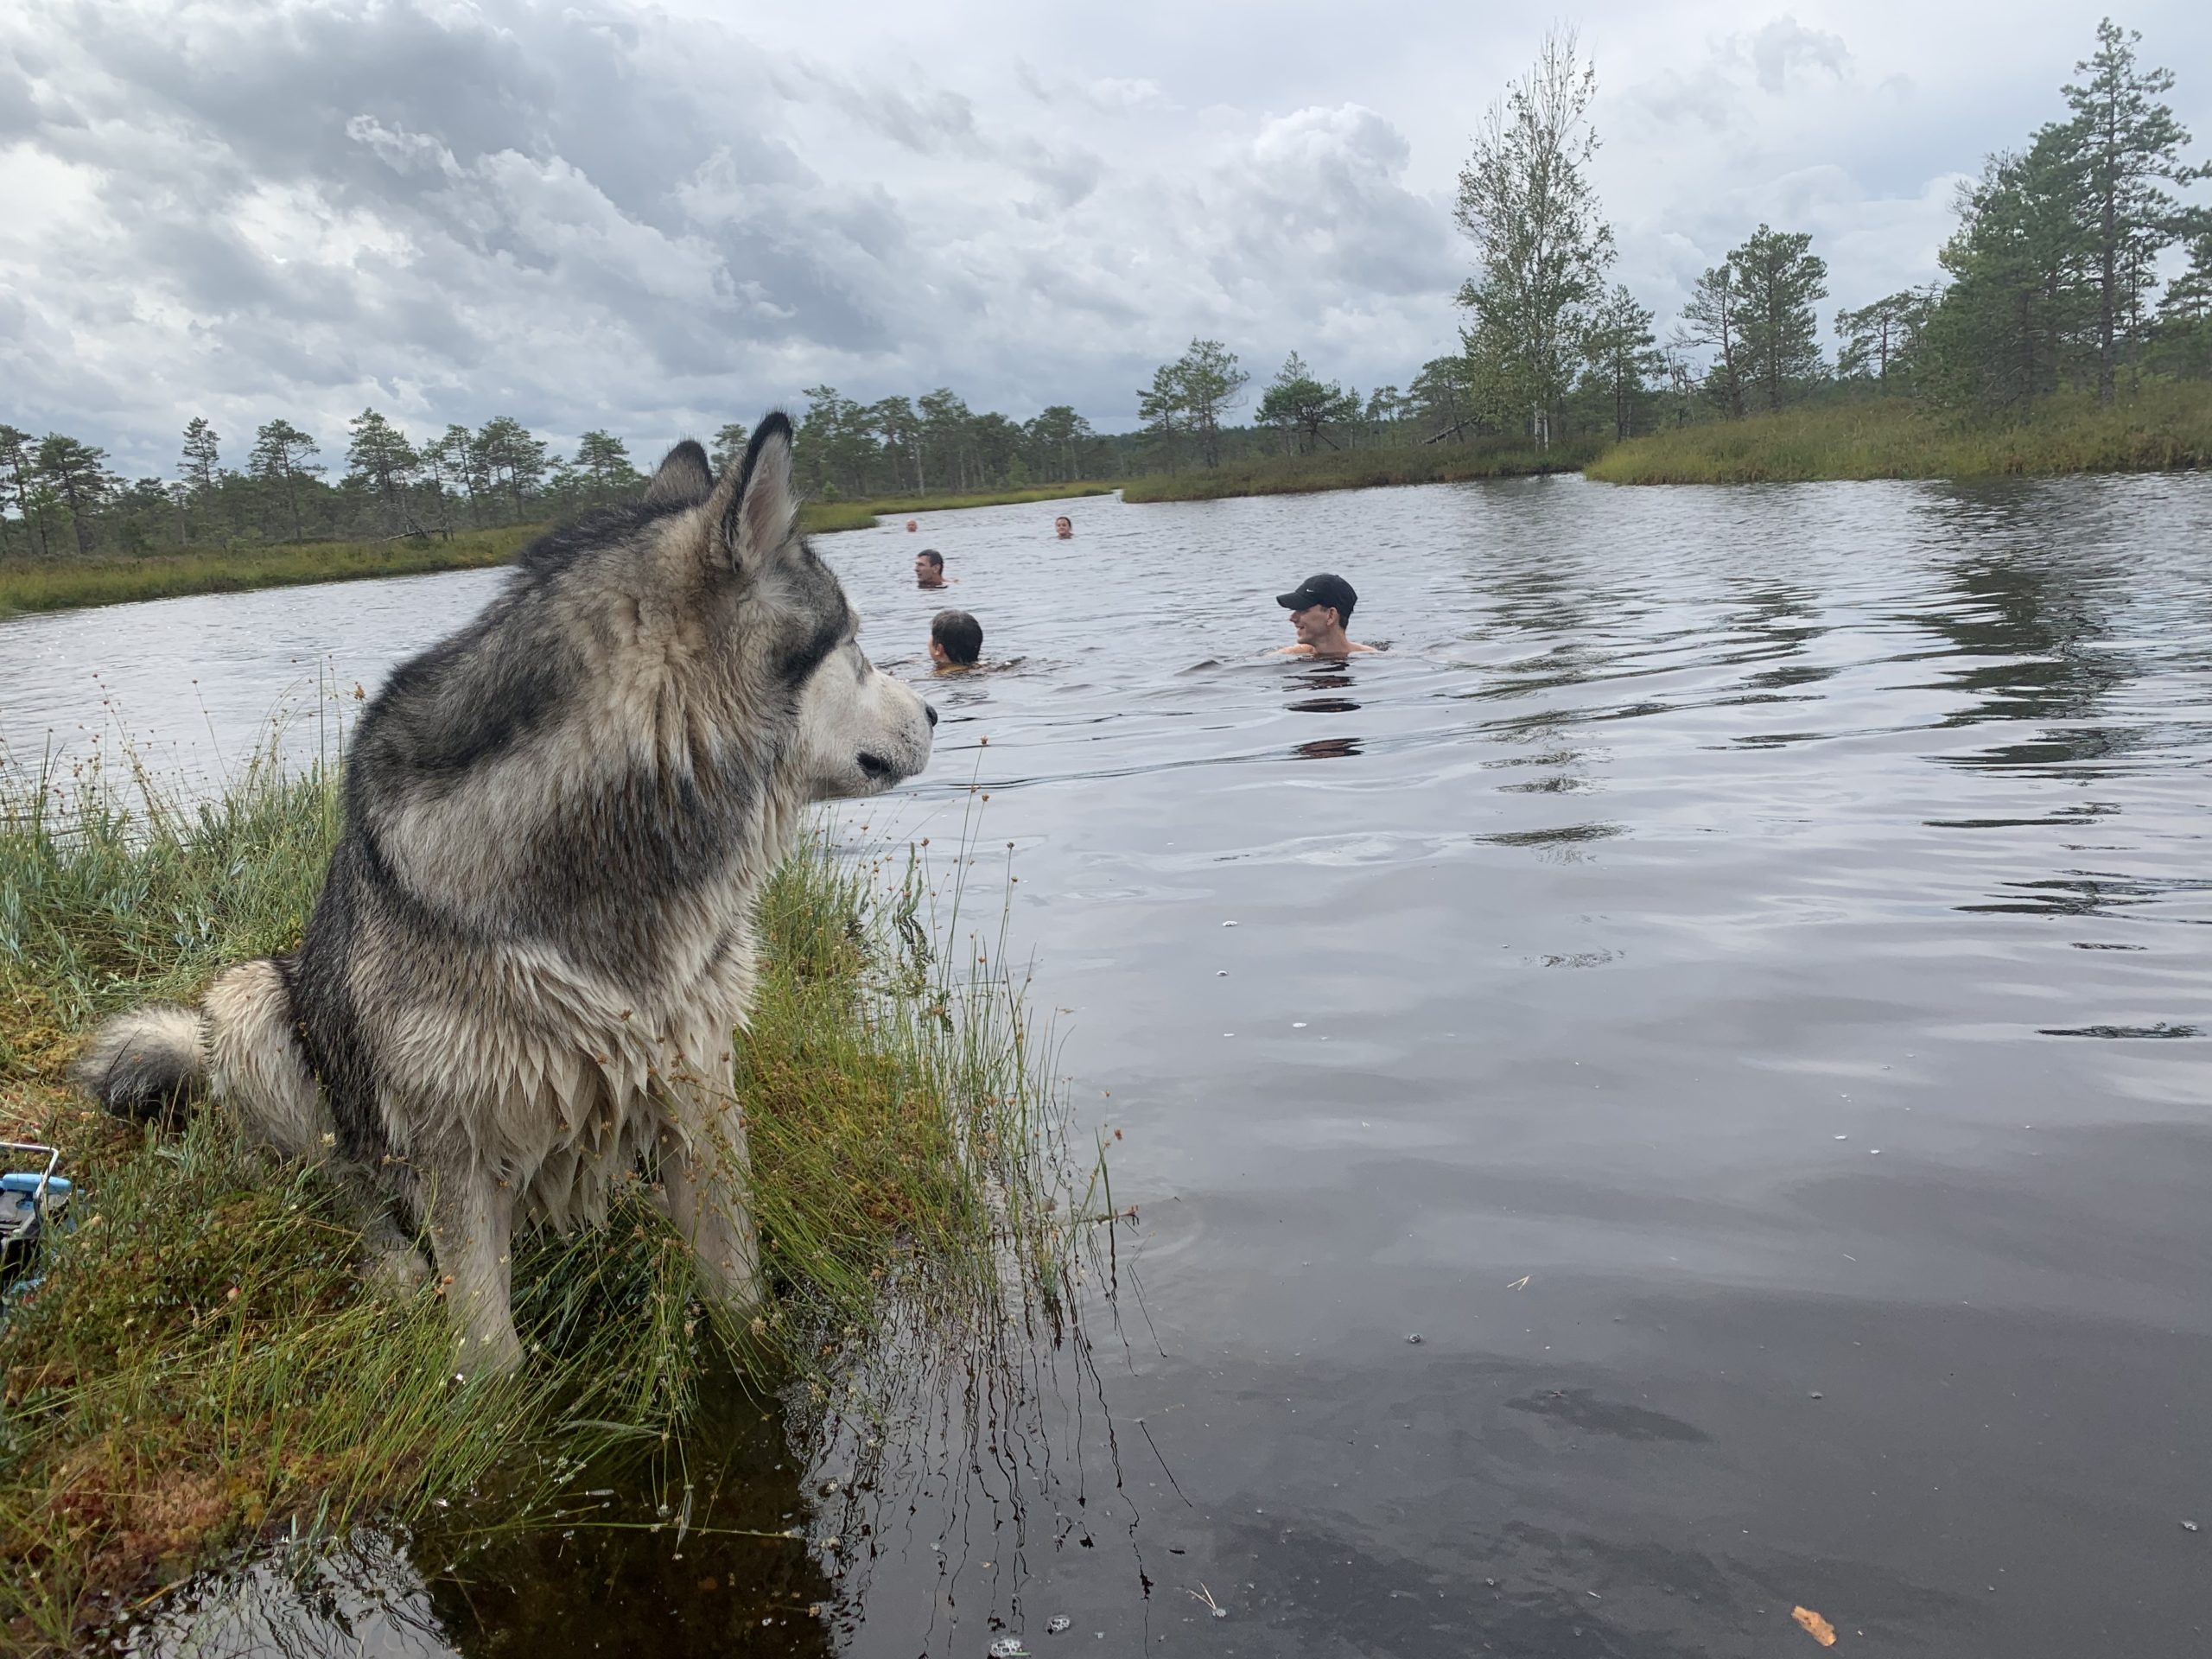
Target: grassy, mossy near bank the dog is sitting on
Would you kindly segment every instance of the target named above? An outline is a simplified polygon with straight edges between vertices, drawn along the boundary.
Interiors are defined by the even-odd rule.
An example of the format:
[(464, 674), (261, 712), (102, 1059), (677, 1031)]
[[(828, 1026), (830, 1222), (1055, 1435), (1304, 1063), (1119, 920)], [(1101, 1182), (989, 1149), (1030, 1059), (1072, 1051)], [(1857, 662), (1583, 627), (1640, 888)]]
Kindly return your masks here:
[(95, 1018), (296, 945), (336, 830), (330, 770), (263, 761), (190, 803), (0, 772), (0, 1137), (58, 1141), (80, 1183), (75, 1230), (0, 1303), (0, 1646), (64, 1648), (272, 1531), (575, 1524), (577, 1471), (672, 1469), (732, 1378), (821, 1442), (880, 1425), (929, 1356), (1064, 1334), (1091, 1170), (1000, 971), (1004, 911), (953, 949), (967, 863), (931, 885), (816, 834), (763, 896), (737, 1048), (774, 1294), (710, 1314), (639, 1181), (604, 1230), (518, 1248), (531, 1358), (458, 1380), (436, 1287), (369, 1290), (312, 1168), (219, 1110), (139, 1133), (60, 1086)]

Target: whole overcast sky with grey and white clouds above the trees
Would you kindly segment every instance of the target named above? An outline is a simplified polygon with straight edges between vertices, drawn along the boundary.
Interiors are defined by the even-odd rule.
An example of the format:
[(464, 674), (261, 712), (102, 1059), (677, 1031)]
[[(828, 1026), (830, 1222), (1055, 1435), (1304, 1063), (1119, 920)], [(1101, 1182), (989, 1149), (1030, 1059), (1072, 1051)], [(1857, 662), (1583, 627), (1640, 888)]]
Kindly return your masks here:
[[(170, 471), (520, 416), (637, 451), (951, 385), (1135, 420), (1194, 334), (1363, 392), (1455, 338), (1451, 226), (1542, 11), (1121, 0), (0, 2), (0, 420)], [(1832, 305), (1936, 274), (2099, 7), (1593, 0), (1597, 184), (1661, 327), (1759, 221)], [(2212, 7), (2124, 18), (2212, 150)]]

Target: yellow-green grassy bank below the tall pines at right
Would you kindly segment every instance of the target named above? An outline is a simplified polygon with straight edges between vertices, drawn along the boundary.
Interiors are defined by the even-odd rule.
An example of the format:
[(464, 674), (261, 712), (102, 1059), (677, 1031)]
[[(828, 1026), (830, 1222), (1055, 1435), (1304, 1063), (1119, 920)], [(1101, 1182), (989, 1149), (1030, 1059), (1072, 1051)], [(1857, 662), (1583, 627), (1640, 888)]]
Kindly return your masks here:
[(2051, 396), (2017, 418), (1911, 398), (1798, 405), (1630, 438), (1584, 471), (1608, 484), (2004, 478), (2212, 465), (2212, 385), (2150, 383), (2101, 405)]

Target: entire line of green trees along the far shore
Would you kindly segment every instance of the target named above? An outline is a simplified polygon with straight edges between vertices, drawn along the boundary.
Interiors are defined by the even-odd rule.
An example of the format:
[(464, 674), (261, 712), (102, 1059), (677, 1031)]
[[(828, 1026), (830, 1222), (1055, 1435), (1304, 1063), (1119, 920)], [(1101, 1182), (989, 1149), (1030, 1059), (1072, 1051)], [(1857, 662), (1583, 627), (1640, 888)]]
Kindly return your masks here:
[[(2066, 113), (1960, 190), (1944, 276), (1838, 310), (1834, 358), (1816, 312), (1827, 261), (1805, 232), (1752, 230), (1699, 276), (1666, 343), (1626, 285), (1608, 288), (1613, 228), (1588, 181), (1597, 77), (1564, 33), (1484, 119), (1455, 206), (1478, 254), (1458, 292), (1460, 349), (1402, 392), (1360, 396), (1292, 352), (1239, 425), (1250, 374), (1208, 338), (1139, 389), (1133, 434), (1095, 431), (1071, 405), (1013, 420), (949, 387), (858, 403), (814, 385), (799, 473), (821, 500), (975, 493), (1369, 445), (1619, 440), (1869, 394), (2022, 418), (2059, 392), (2112, 403), (2146, 378), (2208, 380), (2212, 210), (2177, 190), (2212, 168), (2183, 157), (2190, 135), (2163, 102), (2174, 75), (2146, 69), (2139, 40), (2097, 27), (2062, 88)], [(2174, 248), (2181, 270), (2161, 281)], [(717, 465), (743, 442), (743, 425), (721, 427)], [(0, 560), (422, 540), (551, 520), (644, 484), (613, 434), (586, 431), (564, 456), (511, 416), (414, 438), (363, 409), (332, 456), (336, 478), (285, 418), (254, 431), (243, 465), (223, 456), (215, 427), (192, 418), (173, 478), (126, 480), (95, 445), (0, 422)]]

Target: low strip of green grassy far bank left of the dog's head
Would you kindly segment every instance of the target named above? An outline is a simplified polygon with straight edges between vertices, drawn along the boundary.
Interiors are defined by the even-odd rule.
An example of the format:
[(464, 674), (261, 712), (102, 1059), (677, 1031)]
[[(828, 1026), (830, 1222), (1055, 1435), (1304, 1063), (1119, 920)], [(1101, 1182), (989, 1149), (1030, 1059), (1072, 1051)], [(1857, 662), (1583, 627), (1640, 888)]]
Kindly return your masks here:
[(181, 593), (243, 593), (307, 582), (358, 582), (507, 564), (542, 524), (456, 531), (447, 540), (305, 542), (232, 546), (146, 557), (9, 560), (0, 564), (0, 617), (91, 604), (173, 599)]

